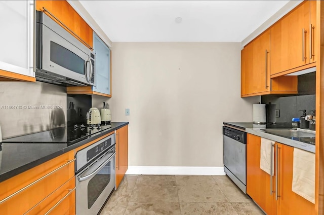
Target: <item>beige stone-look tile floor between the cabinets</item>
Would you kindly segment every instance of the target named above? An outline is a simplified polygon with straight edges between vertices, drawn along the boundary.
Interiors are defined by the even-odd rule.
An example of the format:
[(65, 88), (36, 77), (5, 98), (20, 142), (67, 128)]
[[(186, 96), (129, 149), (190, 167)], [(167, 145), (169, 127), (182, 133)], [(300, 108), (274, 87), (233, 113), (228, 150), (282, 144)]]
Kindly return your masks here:
[(263, 215), (227, 177), (125, 175), (100, 215)]

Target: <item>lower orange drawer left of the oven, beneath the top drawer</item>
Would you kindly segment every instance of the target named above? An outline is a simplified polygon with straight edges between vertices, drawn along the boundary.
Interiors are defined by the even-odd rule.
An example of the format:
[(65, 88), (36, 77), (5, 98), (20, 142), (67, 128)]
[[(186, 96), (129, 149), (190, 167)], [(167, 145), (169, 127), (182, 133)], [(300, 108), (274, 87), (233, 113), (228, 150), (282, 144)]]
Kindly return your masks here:
[[(37, 215), (37, 214), (46, 214), (51, 208), (53, 210), (49, 214), (54, 214), (53, 211), (56, 211), (56, 207), (58, 207), (61, 203), (59, 203), (56, 207), (55, 204), (57, 204), (61, 199), (63, 199), (66, 195), (68, 195), (66, 198), (70, 198), (69, 196), (72, 196), (74, 191), (72, 191), (75, 187), (75, 177), (72, 177), (69, 181), (64, 183), (61, 187), (59, 187), (56, 191), (54, 191), (52, 194), (50, 194), (48, 197), (46, 197), (44, 200), (39, 202), (37, 205), (35, 205), (33, 208), (31, 208), (26, 215)], [(72, 192), (71, 192), (72, 191)], [(69, 194), (69, 192), (71, 192)], [(71, 202), (71, 206), (74, 205), (74, 202)], [(66, 207), (65, 210), (69, 208)], [(64, 214), (65, 211), (61, 211), (57, 214)]]

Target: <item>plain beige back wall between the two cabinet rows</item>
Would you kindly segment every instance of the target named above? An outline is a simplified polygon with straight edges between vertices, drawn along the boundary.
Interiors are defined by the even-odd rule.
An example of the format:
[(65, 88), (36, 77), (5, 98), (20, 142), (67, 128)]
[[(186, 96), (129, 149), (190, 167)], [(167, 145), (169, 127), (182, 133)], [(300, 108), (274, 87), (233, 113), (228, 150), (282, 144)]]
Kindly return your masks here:
[[(131, 166), (222, 166), (222, 122), (252, 121), (240, 43), (113, 43), (113, 121), (129, 121)], [(130, 116), (125, 116), (125, 109)]]

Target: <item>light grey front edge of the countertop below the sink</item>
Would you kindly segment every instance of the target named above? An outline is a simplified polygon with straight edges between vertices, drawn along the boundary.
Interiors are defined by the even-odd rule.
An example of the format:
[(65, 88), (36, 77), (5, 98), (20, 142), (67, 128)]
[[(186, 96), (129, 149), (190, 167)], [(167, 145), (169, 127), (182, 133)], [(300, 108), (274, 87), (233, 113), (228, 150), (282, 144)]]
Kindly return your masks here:
[(280, 144), (285, 144), (287, 146), (291, 146), (291, 147), (295, 147), (295, 148), (298, 148), (298, 149), (301, 149), (301, 150), (305, 150), (305, 151), (308, 151), (308, 152), (312, 152), (312, 153), (315, 153), (315, 146), (314, 145), (311, 145), (311, 144), (306, 144), (305, 142), (300, 142), (300, 141), (297, 141), (297, 140), (294, 140), (294, 139), (289, 139), (289, 138), (286, 138), (286, 137), (281, 137), (281, 136), (277, 136), (277, 135), (274, 135), (274, 134), (269, 134), (269, 133), (266, 133), (260, 129), (256, 129), (256, 128), (246, 128), (245, 129), (247, 133), (250, 133), (250, 134), (253, 134), (253, 135), (256, 135), (256, 136), (260, 136), (260, 137), (263, 137), (263, 138), (267, 138), (267, 139), (271, 139), (271, 140), (274, 140), (276, 142), (279, 142)]

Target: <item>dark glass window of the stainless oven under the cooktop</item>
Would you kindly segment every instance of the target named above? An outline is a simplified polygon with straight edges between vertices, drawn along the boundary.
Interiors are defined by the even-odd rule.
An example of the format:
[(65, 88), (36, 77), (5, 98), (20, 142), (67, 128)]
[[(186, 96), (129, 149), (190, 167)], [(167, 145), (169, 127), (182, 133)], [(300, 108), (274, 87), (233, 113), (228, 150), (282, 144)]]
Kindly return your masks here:
[(88, 209), (95, 203), (102, 191), (110, 182), (111, 161), (109, 161), (88, 184)]

